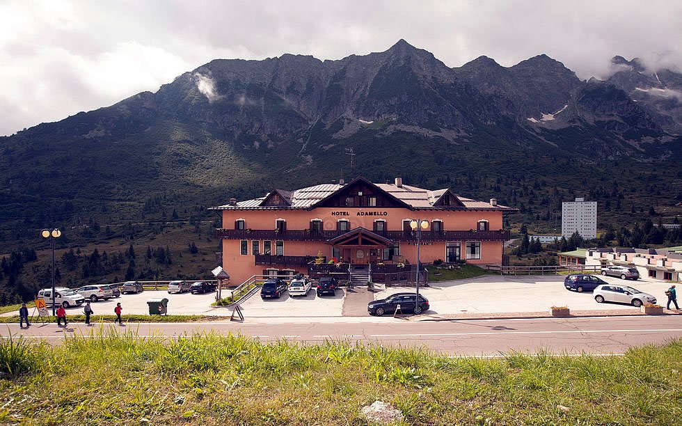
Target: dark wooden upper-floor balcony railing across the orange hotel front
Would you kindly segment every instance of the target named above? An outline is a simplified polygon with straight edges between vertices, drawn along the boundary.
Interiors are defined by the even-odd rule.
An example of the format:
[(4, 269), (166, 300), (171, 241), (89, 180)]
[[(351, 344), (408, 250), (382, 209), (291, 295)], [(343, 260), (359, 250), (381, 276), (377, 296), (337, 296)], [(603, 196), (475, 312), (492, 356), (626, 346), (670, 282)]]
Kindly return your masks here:
[[(216, 229), (221, 239), (265, 239), (286, 241), (327, 241), (348, 231), (342, 230), (274, 230), (274, 229)], [(372, 231), (392, 241), (417, 241), (411, 231)], [(422, 231), (422, 241), (507, 241), (508, 230)]]

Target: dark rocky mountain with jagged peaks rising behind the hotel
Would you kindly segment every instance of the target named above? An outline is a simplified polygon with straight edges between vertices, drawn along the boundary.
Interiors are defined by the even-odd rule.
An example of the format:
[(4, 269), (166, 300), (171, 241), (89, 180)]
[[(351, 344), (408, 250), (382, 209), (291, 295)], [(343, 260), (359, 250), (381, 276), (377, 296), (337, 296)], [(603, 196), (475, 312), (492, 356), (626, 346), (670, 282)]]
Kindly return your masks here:
[(405, 40), (338, 61), (217, 59), (157, 93), (1, 137), (0, 239), (205, 215), (232, 196), (355, 175), (496, 196), (538, 217), (576, 189), (632, 193), (634, 209), (650, 202), (651, 180), (669, 179), (672, 199), (682, 76), (617, 58), (607, 81), (544, 54), (449, 68)]

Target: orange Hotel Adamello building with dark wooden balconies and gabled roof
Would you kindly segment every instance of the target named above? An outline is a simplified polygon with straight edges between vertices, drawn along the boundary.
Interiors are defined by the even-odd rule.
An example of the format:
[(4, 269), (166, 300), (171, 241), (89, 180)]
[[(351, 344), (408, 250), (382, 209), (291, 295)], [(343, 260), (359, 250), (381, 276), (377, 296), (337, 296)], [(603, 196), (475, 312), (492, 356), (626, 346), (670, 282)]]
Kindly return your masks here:
[(316, 258), (363, 265), (416, 264), (414, 219), (427, 221), (420, 232), (420, 261), (502, 264), (509, 231), (502, 214), (511, 207), (395, 182), (375, 184), (357, 178), (286, 191), (274, 189), (253, 200), (211, 210), (222, 215), (216, 235), (222, 267), (233, 285), (254, 275), (308, 274)]

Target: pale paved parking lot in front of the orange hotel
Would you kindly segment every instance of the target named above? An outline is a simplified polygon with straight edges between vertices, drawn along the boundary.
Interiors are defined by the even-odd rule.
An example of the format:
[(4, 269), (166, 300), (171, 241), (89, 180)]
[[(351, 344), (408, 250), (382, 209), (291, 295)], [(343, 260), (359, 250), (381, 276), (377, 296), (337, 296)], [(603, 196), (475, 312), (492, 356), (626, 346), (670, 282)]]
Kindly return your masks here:
[[(420, 293), (429, 299), (431, 314), (457, 315), (471, 313), (537, 313), (547, 312), (550, 306), (568, 306), (571, 310), (627, 310), (633, 306), (617, 303), (596, 303), (592, 292), (571, 292), (564, 288), (565, 276), (481, 276), (461, 281), (431, 283), (421, 287)], [(669, 283), (642, 278), (638, 281), (623, 281), (619, 278), (601, 276), (604, 281), (619, 285), (630, 285), (642, 292), (653, 294), (658, 303), (665, 306), (665, 290)], [(414, 287), (388, 287), (376, 285), (374, 299), (383, 299), (395, 292), (414, 292)], [(360, 292), (362, 292), (360, 290)], [(230, 294), (223, 290), (223, 297)], [(256, 292), (241, 301), (245, 317), (341, 317), (344, 303), (357, 304), (354, 314), (366, 314), (366, 299), (347, 297), (343, 289), (335, 296), (317, 297), (311, 290), (306, 297), (289, 297), (262, 300)], [(370, 295), (367, 295), (371, 297)], [(92, 303), (95, 315), (113, 315), (117, 302), (121, 303), (123, 315), (148, 314), (147, 301), (153, 298), (168, 299), (169, 315), (219, 315), (229, 316), (232, 308), (210, 306), (215, 293), (209, 294), (168, 294), (165, 290), (145, 290), (139, 294), (122, 294), (121, 297)], [(363, 304), (363, 306), (360, 306)], [(68, 313), (82, 313), (82, 307), (69, 308)], [(6, 313), (4, 315), (15, 315)], [(348, 315), (348, 314), (347, 314)]]

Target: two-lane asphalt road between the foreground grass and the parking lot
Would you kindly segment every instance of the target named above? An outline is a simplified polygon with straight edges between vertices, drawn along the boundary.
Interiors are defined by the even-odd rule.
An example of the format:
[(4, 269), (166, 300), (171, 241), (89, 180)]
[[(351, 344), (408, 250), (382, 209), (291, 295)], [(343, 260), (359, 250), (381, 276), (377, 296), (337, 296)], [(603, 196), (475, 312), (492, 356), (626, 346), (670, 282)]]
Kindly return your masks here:
[[(177, 337), (195, 333), (241, 333), (262, 341), (292, 340), (319, 343), (348, 340), (402, 347), (425, 347), (452, 356), (496, 356), (505, 352), (621, 354), (628, 347), (660, 344), (682, 338), (682, 316), (577, 317), (534, 319), (457, 319), (408, 321), (394, 318), (364, 318), (340, 322), (316, 319), (282, 319), (282, 322), (143, 323), (104, 328), (135, 332), (139, 336)], [(87, 336), (98, 326), (70, 324), (64, 331), (54, 324), (34, 324), (19, 330), (8, 324), (0, 335), (22, 333), (27, 338), (58, 343), (71, 333)]]

